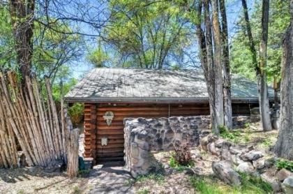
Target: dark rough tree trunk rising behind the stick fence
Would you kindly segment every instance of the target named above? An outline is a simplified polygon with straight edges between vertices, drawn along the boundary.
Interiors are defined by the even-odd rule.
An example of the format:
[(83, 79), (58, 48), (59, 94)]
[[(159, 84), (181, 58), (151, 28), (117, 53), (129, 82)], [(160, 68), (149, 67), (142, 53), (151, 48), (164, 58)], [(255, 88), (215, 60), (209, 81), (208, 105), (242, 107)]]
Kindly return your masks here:
[(10, 0), (11, 24), (15, 39), (17, 65), (22, 78), (29, 76), (33, 54), (34, 0)]

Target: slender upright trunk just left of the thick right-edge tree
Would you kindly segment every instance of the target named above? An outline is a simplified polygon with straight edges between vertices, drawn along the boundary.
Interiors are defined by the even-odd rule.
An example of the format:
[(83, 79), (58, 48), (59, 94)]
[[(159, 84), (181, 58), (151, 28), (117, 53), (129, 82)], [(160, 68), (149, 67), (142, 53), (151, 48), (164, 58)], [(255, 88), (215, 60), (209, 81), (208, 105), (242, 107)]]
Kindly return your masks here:
[(260, 42), (260, 74), (259, 84), (259, 102), (260, 102), (260, 117), (262, 128), (264, 130), (272, 130), (271, 118), (269, 114), (269, 95), (266, 84), (266, 61), (267, 61), (267, 42), (269, 29), (269, 0), (262, 1), (262, 40)]

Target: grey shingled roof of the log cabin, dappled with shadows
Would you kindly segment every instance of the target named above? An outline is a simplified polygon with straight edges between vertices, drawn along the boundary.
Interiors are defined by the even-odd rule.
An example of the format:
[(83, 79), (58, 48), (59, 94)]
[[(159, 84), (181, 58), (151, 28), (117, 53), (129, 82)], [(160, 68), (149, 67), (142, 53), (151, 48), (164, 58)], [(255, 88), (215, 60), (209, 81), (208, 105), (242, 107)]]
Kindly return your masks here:
[[(269, 96), (273, 89), (269, 88)], [(257, 101), (257, 84), (232, 75), (232, 100)], [(65, 96), (67, 102), (208, 100), (201, 68), (145, 70), (94, 68)]]

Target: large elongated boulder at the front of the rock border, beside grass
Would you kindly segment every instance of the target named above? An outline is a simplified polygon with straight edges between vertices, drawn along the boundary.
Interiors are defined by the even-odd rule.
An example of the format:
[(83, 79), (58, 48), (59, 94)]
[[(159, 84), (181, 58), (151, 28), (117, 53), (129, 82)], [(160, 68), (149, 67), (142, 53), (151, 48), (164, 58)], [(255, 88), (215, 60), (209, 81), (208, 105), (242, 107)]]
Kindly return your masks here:
[(213, 172), (225, 183), (232, 186), (241, 185), (240, 175), (233, 170), (230, 161), (218, 161), (211, 164)]

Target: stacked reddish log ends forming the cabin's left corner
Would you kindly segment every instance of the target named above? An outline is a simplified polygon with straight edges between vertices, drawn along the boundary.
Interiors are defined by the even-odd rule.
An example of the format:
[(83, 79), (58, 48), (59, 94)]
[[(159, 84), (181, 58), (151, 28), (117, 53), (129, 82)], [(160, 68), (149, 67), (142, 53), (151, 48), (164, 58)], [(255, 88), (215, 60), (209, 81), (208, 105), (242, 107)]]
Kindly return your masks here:
[(96, 104), (84, 104), (84, 158), (96, 157)]

